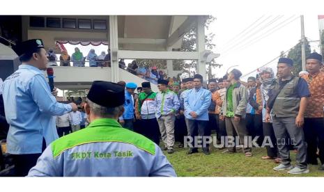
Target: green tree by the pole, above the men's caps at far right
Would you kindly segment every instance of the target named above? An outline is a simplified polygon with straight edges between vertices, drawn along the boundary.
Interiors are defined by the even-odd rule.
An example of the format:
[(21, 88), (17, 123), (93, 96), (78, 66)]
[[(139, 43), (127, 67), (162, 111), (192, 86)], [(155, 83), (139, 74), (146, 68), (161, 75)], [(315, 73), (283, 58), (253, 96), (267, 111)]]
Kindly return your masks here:
[[(305, 38), (305, 55), (311, 54), (311, 46), (309, 41)], [(300, 41), (293, 49), (288, 52), (288, 58), (293, 60), (293, 74), (297, 75), (302, 71), (302, 42)]]

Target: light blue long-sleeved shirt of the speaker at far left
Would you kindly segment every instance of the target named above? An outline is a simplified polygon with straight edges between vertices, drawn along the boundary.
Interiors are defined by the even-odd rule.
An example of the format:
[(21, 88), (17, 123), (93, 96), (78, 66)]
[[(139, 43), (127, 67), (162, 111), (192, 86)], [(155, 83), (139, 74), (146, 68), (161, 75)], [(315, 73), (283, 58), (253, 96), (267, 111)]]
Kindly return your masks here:
[(69, 104), (56, 102), (43, 71), (31, 65), (20, 65), (3, 82), (3, 102), (10, 154), (41, 153), (43, 138), (47, 145), (59, 138), (54, 115), (72, 110)]

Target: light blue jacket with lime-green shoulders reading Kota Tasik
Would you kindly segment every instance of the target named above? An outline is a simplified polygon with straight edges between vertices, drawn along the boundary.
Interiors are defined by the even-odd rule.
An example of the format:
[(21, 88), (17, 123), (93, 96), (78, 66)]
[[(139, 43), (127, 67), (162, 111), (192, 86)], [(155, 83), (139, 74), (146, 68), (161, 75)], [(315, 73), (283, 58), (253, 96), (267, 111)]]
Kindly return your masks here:
[(104, 118), (54, 141), (28, 176), (176, 177), (176, 173), (153, 141)]

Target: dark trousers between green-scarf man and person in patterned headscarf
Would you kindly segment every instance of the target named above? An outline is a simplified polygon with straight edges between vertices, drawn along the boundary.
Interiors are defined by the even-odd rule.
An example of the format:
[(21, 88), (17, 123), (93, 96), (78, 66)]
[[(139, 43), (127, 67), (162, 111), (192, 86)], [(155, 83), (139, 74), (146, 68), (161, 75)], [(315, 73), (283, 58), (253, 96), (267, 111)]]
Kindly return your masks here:
[(259, 136), (256, 143), (261, 146), (263, 142), (262, 114), (252, 115), (251, 113), (247, 113), (245, 120), (249, 136), (252, 136), (252, 139), (256, 136)]

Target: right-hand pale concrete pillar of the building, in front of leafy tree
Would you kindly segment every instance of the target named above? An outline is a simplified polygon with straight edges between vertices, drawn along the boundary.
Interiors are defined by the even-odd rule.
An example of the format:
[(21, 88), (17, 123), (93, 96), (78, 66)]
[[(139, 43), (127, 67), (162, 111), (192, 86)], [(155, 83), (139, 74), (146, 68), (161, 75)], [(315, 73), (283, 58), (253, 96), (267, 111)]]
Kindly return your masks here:
[(203, 77), (203, 81), (206, 81), (206, 61), (202, 60), (201, 53), (205, 51), (205, 26), (203, 16), (198, 16), (196, 26), (196, 45), (197, 51), (200, 55), (197, 61), (197, 72)]

